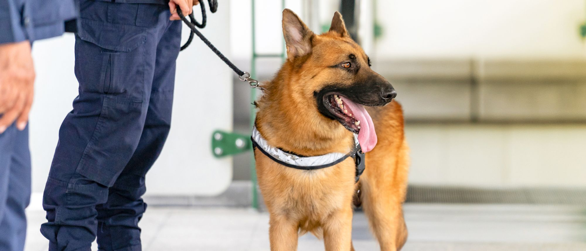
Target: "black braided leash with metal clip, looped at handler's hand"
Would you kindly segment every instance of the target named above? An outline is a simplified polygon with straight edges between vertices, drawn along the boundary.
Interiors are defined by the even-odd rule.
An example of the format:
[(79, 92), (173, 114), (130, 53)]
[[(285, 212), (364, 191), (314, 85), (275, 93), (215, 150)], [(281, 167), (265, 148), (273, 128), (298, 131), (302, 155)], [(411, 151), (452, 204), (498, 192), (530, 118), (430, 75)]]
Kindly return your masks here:
[[(207, 1), (210, 4), (210, 11), (212, 11), (212, 13), (216, 12), (217, 8), (218, 8), (217, 1), (216, 0), (207, 0)], [(203, 1), (199, 1), (199, 5), (201, 6), (201, 9), (202, 9), (202, 23), (198, 23), (195, 20), (193, 13), (189, 14), (190, 21), (188, 21), (188, 19), (185, 18), (185, 16), (181, 12), (181, 9), (179, 8), (179, 6), (177, 6), (177, 13), (179, 14), (179, 17), (191, 29), (191, 33), (189, 34), (189, 39), (187, 40), (187, 42), (185, 42), (185, 45), (181, 46), (181, 50), (184, 50), (185, 48), (187, 48), (190, 45), (190, 43), (193, 40), (193, 34), (195, 34), (199, 37), (199, 39), (202, 39), (202, 41), (207, 45), (207, 47), (209, 47), (212, 50), (212, 52), (216, 53), (216, 55), (218, 57), (220, 57), (220, 59), (222, 59), (222, 61), (224, 63), (226, 63), (226, 65), (228, 65), (234, 72), (236, 72), (236, 74), (238, 74), (240, 80), (248, 82), (248, 84), (250, 84), (250, 87), (263, 90), (262, 87), (258, 86), (258, 81), (250, 77), (250, 73), (243, 72), (238, 67), (236, 67), (236, 65), (234, 65), (232, 62), (230, 62), (230, 60), (226, 56), (224, 56), (222, 54), (222, 52), (220, 52), (220, 50), (218, 50), (216, 48), (216, 46), (212, 45), (212, 42), (207, 40), (207, 38), (205, 36), (203, 36), (202, 33), (199, 32), (199, 30), (196, 29), (196, 26), (200, 29), (204, 28), (207, 23), (206, 7), (204, 6)]]

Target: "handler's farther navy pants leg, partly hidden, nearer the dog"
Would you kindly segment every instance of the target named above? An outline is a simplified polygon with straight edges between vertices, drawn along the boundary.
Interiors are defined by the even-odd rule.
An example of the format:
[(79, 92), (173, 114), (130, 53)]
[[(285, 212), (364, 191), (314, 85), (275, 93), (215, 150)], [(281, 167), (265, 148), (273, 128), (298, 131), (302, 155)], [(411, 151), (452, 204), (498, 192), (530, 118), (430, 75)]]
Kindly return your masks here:
[(145, 175), (161, 153), (171, 128), (180, 30), (181, 23), (172, 22), (159, 42), (147, 118), (137, 150), (110, 188), (108, 201), (97, 206), (100, 251), (140, 250), (138, 222), (147, 208), (141, 196), (146, 191)]

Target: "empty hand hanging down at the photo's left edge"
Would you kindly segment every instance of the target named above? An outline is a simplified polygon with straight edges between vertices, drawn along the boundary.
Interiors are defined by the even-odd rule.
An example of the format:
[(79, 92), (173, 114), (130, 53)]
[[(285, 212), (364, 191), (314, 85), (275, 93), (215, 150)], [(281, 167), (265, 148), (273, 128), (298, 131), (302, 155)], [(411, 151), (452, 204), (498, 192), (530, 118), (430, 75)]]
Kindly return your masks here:
[(0, 45), (0, 133), (15, 120), (24, 130), (33, 103), (35, 66), (29, 41)]

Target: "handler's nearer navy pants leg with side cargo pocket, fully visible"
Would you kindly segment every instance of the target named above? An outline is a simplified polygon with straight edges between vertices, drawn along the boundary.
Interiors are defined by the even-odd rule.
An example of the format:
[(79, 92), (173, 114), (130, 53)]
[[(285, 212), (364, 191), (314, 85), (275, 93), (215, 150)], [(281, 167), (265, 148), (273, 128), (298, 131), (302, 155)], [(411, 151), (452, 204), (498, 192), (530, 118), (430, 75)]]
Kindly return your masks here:
[(97, 205), (139, 147), (156, 48), (168, 28), (165, 5), (80, 0), (76, 35), (79, 96), (59, 131), (47, 179), (41, 232), (49, 250), (89, 251)]

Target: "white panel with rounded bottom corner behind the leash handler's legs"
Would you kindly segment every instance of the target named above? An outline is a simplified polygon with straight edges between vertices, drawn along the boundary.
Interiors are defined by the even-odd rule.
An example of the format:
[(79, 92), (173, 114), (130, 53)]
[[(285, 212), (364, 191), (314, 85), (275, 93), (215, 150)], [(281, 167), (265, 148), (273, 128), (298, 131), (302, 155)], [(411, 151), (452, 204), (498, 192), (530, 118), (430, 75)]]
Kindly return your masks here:
[[(221, 2), (208, 15), (202, 33), (230, 56), (230, 5)], [(183, 41), (188, 29), (183, 30)], [(77, 96), (73, 74), (74, 37), (35, 43), (35, 104), (30, 116), (33, 191), (42, 192), (57, 144), (59, 126)], [(232, 128), (230, 68), (197, 37), (179, 54), (172, 130), (161, 157), (147, 175), (148, 194), (216, 195), (231, 182), (230, 158), (216, 159), (210, 150), (212, 131)]]

